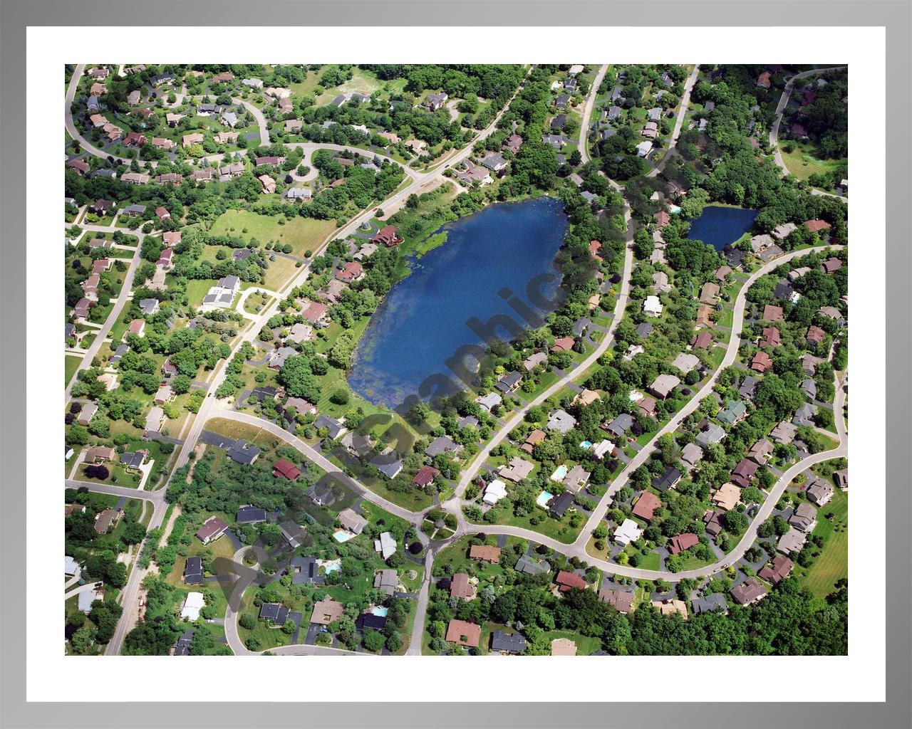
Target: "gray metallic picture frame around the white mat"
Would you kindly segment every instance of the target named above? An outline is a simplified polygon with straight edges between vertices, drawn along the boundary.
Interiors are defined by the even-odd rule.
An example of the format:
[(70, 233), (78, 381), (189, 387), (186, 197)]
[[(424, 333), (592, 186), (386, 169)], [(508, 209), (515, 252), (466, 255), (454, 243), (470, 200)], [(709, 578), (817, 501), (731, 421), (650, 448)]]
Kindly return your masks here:
[[(912, 246), (908, 244), (907, 209), (912, 200), (908, 162), (910, 98), (886, 96), (886, 595), (871, 595), (869, 604), (886, 606), (886, 702), (884, 703), (578, 703), (572, 692), (554, 703), (131, 703), (116, 711), (102, 703), (26, 703), (26, 413), (29, 382), (26, 373), (26, 27), (28, 26), (144, 26), (161, 18), (179, 19), (181, 26), (264, 26), (278, 19), (288, 26), (345, 26), (355, 18), (368, 26), (885, 26), (886, 87), (907, 89), (912, 68), (912, 4), (888, 0), (845, 2), (283, 2), (256, 3), (183, 0), (180, 3), (3, 2), (0, 5), (0, 150), (3, 195), (0, 196), (3, 264), (0, 266), (2, 317), (4, 488), (0, 490), (0, 541), (4, 590), (0, 621), (0, 724), (10, 727), (151, 727), (219, 726), (662, 726), (736, 727), (908, 727), (910, 704), (910, 621), (912, 552), (908, 548), (908, 519), (912, 501), (908, 478), (908, 447), (912, 442), (909, 413), (909, 362), (912, 360), (908, 279)], [(116, 12), (112, 12), (116, 9)], [(61, 97), (62, 100), (62, 97)], [(885, 144), (886, 146), (886, 144)], [(873, 353), (879, 357), (881, 353)], [(26, 382), (27, 387), (22, 387)], [(34, 535), (33, 535), (34, 536)], [(879, 559), (879, 558), (878, 558)], [(864, 590), (863, 580), (855, 589)], [(153, 679), (154, 680), (154, 679)], [(606, 673), (608, 680), (608, 673)], [(570, 682), (568, 682), (570, 683)], [(751, 693), (753, 691), (751, 690)], [(558, 698), (555, 696), (555, 698)], [(129, 718), (128, 718), (129, 714)]]

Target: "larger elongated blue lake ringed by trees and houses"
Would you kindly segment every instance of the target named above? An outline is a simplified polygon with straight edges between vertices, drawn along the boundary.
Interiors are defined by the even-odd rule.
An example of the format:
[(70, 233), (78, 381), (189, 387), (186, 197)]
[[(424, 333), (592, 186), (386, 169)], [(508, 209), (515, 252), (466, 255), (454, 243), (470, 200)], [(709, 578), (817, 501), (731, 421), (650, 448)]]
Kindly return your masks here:
[[(504, 287), (529, 306), (527, 285), (551, 274), (539, 288), (553, 297), (560, 283), (554, 257), (567, 225), (560, 200), (537, 198), (491, 205), (443, 226), (446, 243), (412, 261), (409, 276), (380, 303), (358, 344), (348, 384), (369, 402), (392, 408), (409, 395), (435, 394), (420, 389), (431, 375), (459, 381), (446, 362), (461, 346), (483, 341), (478, 327), (469, 326), (473, 317), (488, 323), (507, 314), (530, 328), (499, 295)], [(549, 313), (553, 306), (539, 300), (534, 309)]]

